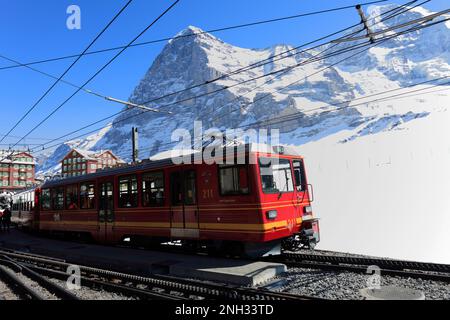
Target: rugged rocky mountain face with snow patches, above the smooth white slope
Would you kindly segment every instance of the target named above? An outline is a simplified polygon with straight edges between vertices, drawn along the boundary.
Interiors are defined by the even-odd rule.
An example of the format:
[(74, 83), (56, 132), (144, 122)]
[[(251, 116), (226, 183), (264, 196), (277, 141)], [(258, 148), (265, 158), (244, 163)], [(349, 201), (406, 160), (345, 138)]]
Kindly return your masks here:
[[(374, 24), (374, 31), (431, 14), (423, 8), (416, 8), (380, 21), (379, 15), (392, 8), (390, 5), (369, 7), (369, 22)], [(345, 130), (348, 137), (341, 139), (341, 143), (367, 134), (396, 130), (405, 122), (426, 117), (426, 101), (410, 108), (396, 107), (395, 102), (361, 105), (350, 101), (450, 74), (449, 29), (450, 23), (439, 24), (382, 42), (346, 61), (340, 62), (354, 52), (314, 63), (307, 61), (320, 51), (336, 52), (355, 42), (341, 43), (332, 48), (325, 45), (296, 55), (284, 54), (280, 59), (276, 55), (293, 46), (245, 49), (227, 44), (208, 33), (179, 37), (167, 43), (129, 98), (134, 103), (171, 111), (172, 114), (128, 109), (99, 134), (56, 149), (40, 170), (55, 169), (71, 146), (111, 149), (129, 160), (131, 127), (139, 128), (141, 158), (170, 149), (172, 132), (177, 128), (192, 130), (195, 120), (201, 120), (204, 129), (217, 127), (222, 130), (258, 122), (250, 127), (278, 128), (282, 143), (296, 145)], [(178, 35), (201, 32), (199, 28), (190, 26)], [(171, 94), (261, 60), (268, 63), (189, 91)], [(302, 62), (287, 72), (262, 77)], [(255, 79), (258, 77), (261, 78)], [(245, 83), (239, 84), (241, 82)], [(190, 99), (193, 96), (198, 97)], [(298, 116), (284, 123), (273, 120), (271, 124), (271, 119), (291, 114)], [(261, 125), (261, 121), (266, 122)]]

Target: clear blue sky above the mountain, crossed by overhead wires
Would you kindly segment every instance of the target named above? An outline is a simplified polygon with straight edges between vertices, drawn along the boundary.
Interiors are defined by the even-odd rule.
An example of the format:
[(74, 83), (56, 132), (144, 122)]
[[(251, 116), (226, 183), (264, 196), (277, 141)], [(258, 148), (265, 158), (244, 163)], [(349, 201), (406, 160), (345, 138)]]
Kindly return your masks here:
[[(0, 0), (0, 54), (28, 62), (84, 50), (125, 0)], [(352, 5), (355, 0), (181, 0), (180, 3), (151, 28), (139, 41), (175, 35), (188, 25), (204, 30), (252, 21), (300, 14), (308, 11)], [(404, 3), (390, 1), (387, 3)], [(134, 0), (108, 31), (96, 42), (92, 50), (124, 45), (136, 36), (152, 19), (159, 15), (171, 1)], [(447, 6), (446, 6), (447, 3)], [(81, 8), (81, 30), (68, 30), (66, 9), (76, 4)], [(448, 7), (448, 0), (433, 0), (426, 8), (438, 11)], [(298, 45), (337, 29), (357, 23), (356, 10), (253, 26), (215, 35), (225, 42), (247, 48), (264, 48), (277, 43)], [(105, 95), (126, 100), (151, 63), (164, 47), (164, 43), (130, 48), (100, 74), (87, 88)], [(83, 57), (65, 77), (81, 84), (114, 55), (109, 52)], [(72, 60), (36, 65), (42, 71), (60, 75)], [(0, 66), (10, 65), (0, 58)], [(0, 108), (3, 115), (3, 134), (42, 95), (53, 80), (26, 68), (0, 70)], [(30, 126), (64, 101), (74, 89), (59, 84), (30, 116), (11, 135), (21, 136)], [(121, 109), (80, 92), (42, 127), (30, 135), (25, 143), (42, 142), (82, 127)], [(3, 143), (14, 143), (17, 138), (7, 138)], [(4, 148), (5, 146), (0, 146)]]

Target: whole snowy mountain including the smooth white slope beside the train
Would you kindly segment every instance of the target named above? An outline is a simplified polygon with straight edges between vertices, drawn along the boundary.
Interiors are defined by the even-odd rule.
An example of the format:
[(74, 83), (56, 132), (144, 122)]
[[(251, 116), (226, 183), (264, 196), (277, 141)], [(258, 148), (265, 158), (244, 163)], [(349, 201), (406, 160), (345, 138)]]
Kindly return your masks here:
[[(380, 22), (378, 16), (392, 8), (368, 8), (374, 31), (432, 13), (415, 8)], [(190, 26), (178, 35), (199, 32)], [(450, 252), (445, 229), (450, 206), (443, 192), (450, 189), (450, 145), (445, 139), (450, 134), (450, 86), (396, 100), (386, 97), (401, 91), (377, 96), (386, 99), (375, 102), (374, 97), (364, 98), (450, 75), (449, 22), (382, 42), (347, 61), (337, 63), (352, 53), (304, 64), (279, 77), (250, 80), (307, 61), (321, 50), (351, 45), (279, 59), (274, 55), (293, 46), (239, 48), (207, 33), (169, 41), (130, 101), (144, 104), (260, 60), (270, 63), (147, 104), (171, 115), (131, 117), (142, 111), (129, 109), (98, 134), (59, 147), (40, 171), (57, 170), (71, 146), (111, 149), (127, 159), (134, 126), (144, 158), (170, 149), (171, 133), (192, 130), (195, 120), (202, 120), (205, 129), (266, 120), (264, 127), (280, 129), (282, 143), (304, 146), (318, 199), (314, 209), (322, 218), (321, 248), (450, 263), (450, 256), (441, 254)], [(266, 83), (269, 79), (273, 81)], [(201, 97), (188, 100), (194, 95)], [(270, 125), (271, 119), (291, 114), (299, 116)]]

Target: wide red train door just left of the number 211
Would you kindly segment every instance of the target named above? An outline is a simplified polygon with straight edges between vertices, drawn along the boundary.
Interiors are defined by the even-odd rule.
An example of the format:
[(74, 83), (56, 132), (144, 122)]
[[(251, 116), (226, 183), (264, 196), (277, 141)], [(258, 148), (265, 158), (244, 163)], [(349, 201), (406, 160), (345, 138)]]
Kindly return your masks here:
[(198, 238), (199, 211), (193, 167), (170, 173), (170, 227), (172, 237)]

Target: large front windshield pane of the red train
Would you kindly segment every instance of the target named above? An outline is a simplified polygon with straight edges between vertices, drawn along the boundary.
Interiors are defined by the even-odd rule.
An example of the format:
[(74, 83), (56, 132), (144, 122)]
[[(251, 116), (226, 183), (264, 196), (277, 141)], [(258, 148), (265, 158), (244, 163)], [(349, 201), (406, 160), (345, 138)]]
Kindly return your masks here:
[(288, 159), (259, 158), (259, 168), (264, 193), (294, 191), (291, 164)]

